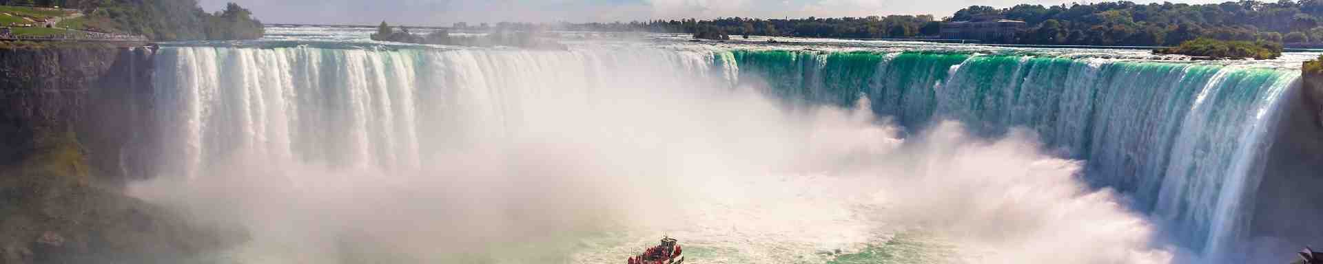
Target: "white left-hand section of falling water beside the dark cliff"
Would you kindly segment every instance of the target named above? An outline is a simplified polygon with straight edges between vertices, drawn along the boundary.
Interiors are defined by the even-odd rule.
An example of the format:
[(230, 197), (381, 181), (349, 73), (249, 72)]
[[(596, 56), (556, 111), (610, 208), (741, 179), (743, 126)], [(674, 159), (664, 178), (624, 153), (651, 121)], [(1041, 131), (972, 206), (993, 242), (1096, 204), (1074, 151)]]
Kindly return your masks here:
[[(417, 169), (443, 137), (511, 136), (524, 100), (591, 99), (628, 82), (607, 71), (712, 75), (712, 53), (167, 48), (156, 75), (171, 174), (196, 176), (232, 152), (355, 169)], [(587, 78), (583, 78), (587, 77)], [(587, 82), (583, 82), (587, 81)], [(577, 91), (542, 91), (572, 82)], [(463, 115), (460, 115), (462, 112)], [(427, 124), (426, 127), (422, 124)], [(455, 141), (455, 140), (451, 140)]]

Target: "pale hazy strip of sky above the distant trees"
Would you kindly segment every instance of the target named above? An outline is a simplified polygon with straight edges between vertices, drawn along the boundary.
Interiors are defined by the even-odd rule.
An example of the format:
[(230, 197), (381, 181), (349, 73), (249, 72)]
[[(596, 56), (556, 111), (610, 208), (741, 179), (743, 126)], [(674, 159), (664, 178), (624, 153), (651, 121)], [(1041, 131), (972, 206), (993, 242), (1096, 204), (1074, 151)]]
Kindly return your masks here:
[[(1084, 0), (200, 0), (217, 11), (233, 1), (263, 22), (405, 25), (454, 22), (610, 22), (655, 18), (713, 17), (843, 17), (886, 15), (951, 16), (970, 5), (1057, 5)], [(1152, 3), (1154, 0), (1134, 0)], [(1220, 0), (1171, 0), (1220, 3)]]

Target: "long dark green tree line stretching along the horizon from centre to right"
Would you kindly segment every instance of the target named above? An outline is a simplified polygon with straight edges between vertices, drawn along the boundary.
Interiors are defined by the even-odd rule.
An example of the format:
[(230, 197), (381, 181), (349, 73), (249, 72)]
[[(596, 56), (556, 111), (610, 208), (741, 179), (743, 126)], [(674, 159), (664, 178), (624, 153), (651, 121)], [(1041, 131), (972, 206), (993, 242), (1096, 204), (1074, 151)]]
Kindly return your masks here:
[(943, 21), (1020, 20), (1027, 28), (1012, 40), (988, 42), (1037, 45), (1179, 45), (1200, 37), (1226, 41), (1323, 42), (1323, 0), (1244, 0), (1221, 4), (1094, 4), (1011, 8), (974, 5), (941, 20), (921, 16), (869, 16), (839, 18), (742, 18), (651, 20), (634, 22), (574, 24), (582, 30), (646, 30), (658, 33), (792, 36), (836, 38), (937, 37)]

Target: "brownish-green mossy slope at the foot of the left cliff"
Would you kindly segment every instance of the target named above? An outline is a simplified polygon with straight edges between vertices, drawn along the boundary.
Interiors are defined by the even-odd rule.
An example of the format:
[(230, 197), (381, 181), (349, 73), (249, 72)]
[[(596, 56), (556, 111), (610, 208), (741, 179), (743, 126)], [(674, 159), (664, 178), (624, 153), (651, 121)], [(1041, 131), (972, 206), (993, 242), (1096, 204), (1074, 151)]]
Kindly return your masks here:
[(25, 158), (0, 165), (0, 261), (177, 261), (235, 240), (97, 186), (74, 132), (33, 131)]

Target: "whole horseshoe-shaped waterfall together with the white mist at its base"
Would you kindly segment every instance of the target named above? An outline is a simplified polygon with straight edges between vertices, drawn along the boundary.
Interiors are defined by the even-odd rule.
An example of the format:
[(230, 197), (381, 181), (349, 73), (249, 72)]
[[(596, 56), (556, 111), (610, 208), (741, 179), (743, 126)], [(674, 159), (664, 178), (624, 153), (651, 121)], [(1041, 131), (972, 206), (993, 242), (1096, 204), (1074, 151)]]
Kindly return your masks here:
[(1298, 70), (790, 49), (165, 46), (160, 176), (134, 189), (245, 226), (224, 257), (253, 263), (607, 263), (662, 235), (703, 263), (1170, 263), (1318, 240), (1256, 211), (1306, 199), (1262, 193), (1274, 177), (1316, 176), (1281, 150), (1318, 136), (1282, 132)]

